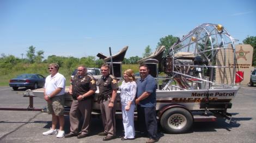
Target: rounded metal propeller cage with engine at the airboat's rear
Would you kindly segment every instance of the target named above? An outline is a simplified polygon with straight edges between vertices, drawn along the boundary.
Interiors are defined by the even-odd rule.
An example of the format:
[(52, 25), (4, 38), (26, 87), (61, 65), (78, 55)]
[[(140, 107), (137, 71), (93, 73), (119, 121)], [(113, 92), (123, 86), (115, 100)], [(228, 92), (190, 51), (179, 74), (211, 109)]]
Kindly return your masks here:
[(194, 28), (163, 57), (161, 69), (170, 76), (163, 90), (170, 86), (179, 90), (233, 87), (236, 67), (230, 65), (235, 65), (234, 44), (220, 24), (205, 23)]

